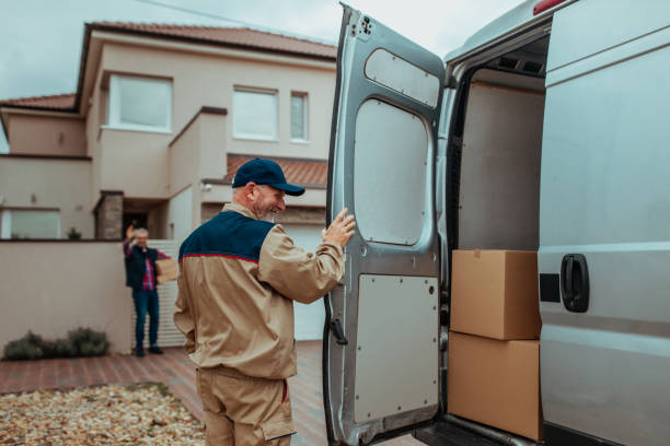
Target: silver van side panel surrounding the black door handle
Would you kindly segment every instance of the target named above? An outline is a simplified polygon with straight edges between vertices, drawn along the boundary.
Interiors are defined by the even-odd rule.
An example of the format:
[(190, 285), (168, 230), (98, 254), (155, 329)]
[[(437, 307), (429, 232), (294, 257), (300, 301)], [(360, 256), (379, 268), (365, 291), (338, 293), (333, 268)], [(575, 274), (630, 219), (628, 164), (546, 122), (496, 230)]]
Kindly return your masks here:
[[(574, 8), (593, 3), (607, 8)], [(607, 45), (562, 13), (575, 22), (554, 23), (550, 55), (571, 34), (588, 51)], [(633, 39), (593, 56), (615, 52), (610, 63), (548, 85), (544, 115), (539, 272), (561, 274), (564, 256), (580, 254), (589, 280), (585, 313), (541, 302), (544, 418), (621, 444), (670, 436), (670, 35), (654, 34), (665, 43), (639, 51)]]

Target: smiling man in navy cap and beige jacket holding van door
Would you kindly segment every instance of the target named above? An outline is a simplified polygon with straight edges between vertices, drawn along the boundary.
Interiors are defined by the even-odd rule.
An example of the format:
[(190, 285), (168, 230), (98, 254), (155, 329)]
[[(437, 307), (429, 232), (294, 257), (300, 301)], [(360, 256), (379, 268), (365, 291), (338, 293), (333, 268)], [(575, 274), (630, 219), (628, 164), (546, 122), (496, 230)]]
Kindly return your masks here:
[(232, 187), (232, 202), (180, 247), (174, 322), (197, 367), (207, 444), (290, 445), (293, 301), (312, 303), (342, 280), (356, 222), (344, 209), (307, 253), (273, 223), (285, 195), (304, 192), (278, 164), (252, 160)]

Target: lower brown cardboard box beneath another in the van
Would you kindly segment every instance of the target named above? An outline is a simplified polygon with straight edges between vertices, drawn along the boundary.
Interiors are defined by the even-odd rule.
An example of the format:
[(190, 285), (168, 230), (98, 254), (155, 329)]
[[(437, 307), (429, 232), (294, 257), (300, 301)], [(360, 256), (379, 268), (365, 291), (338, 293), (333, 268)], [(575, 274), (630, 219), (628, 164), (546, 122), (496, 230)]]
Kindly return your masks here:
[(449, 332), (449, 413), (542, 439), (540, 341)]

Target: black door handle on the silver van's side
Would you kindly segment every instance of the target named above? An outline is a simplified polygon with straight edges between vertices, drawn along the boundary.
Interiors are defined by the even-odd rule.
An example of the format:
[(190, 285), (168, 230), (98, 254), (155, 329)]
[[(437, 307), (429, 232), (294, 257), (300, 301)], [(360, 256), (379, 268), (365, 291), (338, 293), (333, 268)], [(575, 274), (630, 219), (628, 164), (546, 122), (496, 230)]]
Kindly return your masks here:
[(589, 308), (589, 269), (584, 254), (566, 254), (561, 262), (561, 296), (568, 312)]

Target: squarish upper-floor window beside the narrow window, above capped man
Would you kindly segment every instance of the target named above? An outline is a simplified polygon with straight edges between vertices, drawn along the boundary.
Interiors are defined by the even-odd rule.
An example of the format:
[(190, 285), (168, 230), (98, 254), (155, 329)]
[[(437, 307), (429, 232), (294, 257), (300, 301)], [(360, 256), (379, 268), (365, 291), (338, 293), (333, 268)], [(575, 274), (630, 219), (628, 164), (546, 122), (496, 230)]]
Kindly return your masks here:
[(233, 137), (277, 140), (277, 92), (249, 89), (234, 90)]

